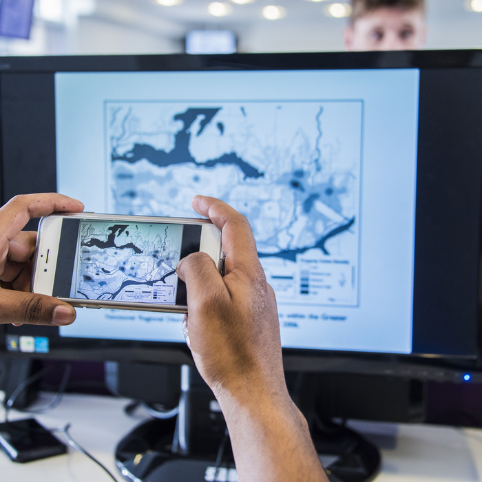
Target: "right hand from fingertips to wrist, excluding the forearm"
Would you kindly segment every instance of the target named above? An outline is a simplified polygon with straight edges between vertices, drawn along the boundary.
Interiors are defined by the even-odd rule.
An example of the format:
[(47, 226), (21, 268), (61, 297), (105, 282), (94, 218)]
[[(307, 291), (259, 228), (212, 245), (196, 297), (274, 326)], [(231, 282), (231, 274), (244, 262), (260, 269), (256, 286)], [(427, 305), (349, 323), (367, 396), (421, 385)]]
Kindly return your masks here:
[(224, 277), (205, 253), (178, 264), (187, 285), (187, 331), (194, 361), (216, 396), (255, 381), (286, 391), (273, 289), (258, 260), (249, 222), (224, 202), (193, 198), (193, 208), (222, 231)]

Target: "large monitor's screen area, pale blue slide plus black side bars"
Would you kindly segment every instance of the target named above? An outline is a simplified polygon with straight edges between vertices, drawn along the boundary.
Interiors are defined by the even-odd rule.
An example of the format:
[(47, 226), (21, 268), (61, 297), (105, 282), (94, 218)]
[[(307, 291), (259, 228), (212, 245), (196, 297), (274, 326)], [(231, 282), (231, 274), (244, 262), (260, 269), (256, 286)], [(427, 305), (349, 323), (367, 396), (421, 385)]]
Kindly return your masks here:
[[(98, 213), (193, 217), (195, 194), (220, 198), (251, 223), (286, 353), (474, 364), (482, 99), (471, 88), (482, 70), (466, 56), (11, 59), (2, 137), (17, 139), (3, 149), (3, 197), (45, 190), (41, 174)], [(25, 106), (37, 158), (23, 154), (22, 176), (34, 189), (9, 172), (15, 143), (32, 136)], [(180, 320), (79, 308), (39, 350), (174, 349)], [(7, 349), (22, 350), (19, 328), (7, 332)]]

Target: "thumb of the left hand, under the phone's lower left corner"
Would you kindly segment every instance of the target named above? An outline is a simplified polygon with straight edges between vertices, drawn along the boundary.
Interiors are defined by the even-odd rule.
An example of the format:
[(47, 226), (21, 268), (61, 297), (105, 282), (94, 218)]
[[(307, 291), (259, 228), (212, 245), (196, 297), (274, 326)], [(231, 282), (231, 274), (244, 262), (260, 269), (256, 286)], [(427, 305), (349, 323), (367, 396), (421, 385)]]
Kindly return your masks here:
[(73, 306), (54, 297), (0, 289), (0, 323), (61, 326), (75, 317)]

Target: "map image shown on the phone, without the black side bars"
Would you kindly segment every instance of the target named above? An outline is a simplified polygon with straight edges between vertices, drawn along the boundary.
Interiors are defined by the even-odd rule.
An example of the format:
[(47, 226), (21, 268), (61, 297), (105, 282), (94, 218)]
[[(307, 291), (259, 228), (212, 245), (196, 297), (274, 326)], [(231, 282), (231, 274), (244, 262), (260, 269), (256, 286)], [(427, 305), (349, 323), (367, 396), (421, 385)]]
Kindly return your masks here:
[(82, 220), (71, 297), (174, 304), (182, 228)]

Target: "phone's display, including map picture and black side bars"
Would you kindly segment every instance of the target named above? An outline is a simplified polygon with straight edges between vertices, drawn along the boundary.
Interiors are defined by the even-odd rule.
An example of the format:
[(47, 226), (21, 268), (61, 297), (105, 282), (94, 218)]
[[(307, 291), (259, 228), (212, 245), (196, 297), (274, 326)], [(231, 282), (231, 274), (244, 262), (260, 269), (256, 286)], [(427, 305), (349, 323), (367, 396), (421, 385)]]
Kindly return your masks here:
[(185, 306), (176, 265), (199, 251), (202, 226), (62, 220), (52, 295)]

